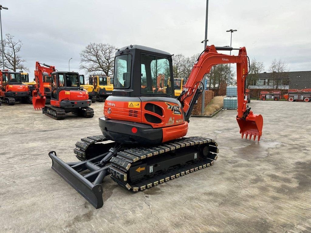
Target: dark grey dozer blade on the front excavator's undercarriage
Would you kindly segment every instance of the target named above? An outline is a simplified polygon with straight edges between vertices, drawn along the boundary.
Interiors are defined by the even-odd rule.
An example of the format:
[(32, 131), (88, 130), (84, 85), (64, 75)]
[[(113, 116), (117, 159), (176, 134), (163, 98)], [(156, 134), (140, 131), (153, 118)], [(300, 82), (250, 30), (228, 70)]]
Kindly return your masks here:
[[(56, 156), (55, 151), (49, 153), (49, 157), (52, 159), (52, 169), (58, 173), (64, 180), (67, 181), (75, 190), (78, 191), (86, 200), (88, 200), (96, 209), (103, 206), (103, 189), (100, 184), (92, 184), (91, 181), (87, 180), (86, 177), (82, 176), (78, 171), (72, 168), (83, 164), (84, 162), (71, 162), (65, 163), (60, 158)], [(85, 165), (85, 164), (83, 164)], [(77, 169), (80, 167), (77, 166)], [(107, 168), (101, 168), (95, 171), (97, 176), (103, 176), (106, 174)], [(99, 171), (101, 170), (101, 171)], [(90, 172), (88, 177), (91, 176)], [(101, 174), (103, 173), (103, 174)], [(102, 180), (100, 181), (102, 182)], [(96, 180), (95, 182), (96, 183)]]

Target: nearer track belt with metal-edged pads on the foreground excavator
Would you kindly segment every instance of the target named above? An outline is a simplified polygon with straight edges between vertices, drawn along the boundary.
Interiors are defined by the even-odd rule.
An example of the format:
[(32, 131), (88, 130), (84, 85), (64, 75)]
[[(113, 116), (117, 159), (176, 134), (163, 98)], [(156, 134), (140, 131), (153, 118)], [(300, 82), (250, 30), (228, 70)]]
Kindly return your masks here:
[[(134, 165), (135, 162), (149, 158), (151, 156), (157, 156), (159, 154), (163, 154), (169, 151), (179, 150), (180, 148), (185, 148), (188, 146), (199, 145), (199, 144), (207, 144), (209, 147), (209, 153), (207, 157), (203, 159), (203, 161), (198, 161), (190, 165), (186, 165), (185, 167), (177, 168), (173, 171), (168, 171), (164, 174), (160, 174), (158, 176), (154, 176), (150, 179), (141, 181), (136, 184), (130, 184), (127, 182), (128, 169)], [(109, 172), (111, 173), (111, 178), (117, 182), (119, 185), (127, 188), (128, 190), (133, 190), (137, 192), (138, 190), (145, 190), (146, 188), (151, 188), (153, 186), (162, 184), (169, 180), (173, 180), (180, 176), (187, 175), (194, 171), (201, 170), (203, 168), (209, 167), (214, 164), (214, 161), (217, 160), (218, 153), (218, 144), (208, 138), (202, 137), (188, 137), (181, 138), (171, 141), (167, 144), (161, 144), (152, 148), (132, 148), (127, 149), (122, 152), (118, 152), (117, 156), (111, 158), (109, 165)], [(121, 171), (123, 170), (123, 171)]]

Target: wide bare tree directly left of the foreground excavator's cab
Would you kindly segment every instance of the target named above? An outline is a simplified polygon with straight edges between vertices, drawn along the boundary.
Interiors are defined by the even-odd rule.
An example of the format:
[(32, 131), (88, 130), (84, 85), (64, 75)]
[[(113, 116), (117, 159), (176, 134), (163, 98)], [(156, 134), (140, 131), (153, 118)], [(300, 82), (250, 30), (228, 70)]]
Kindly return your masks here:
[(104, 72), (106, 76), (112, 75), (115, 49), (111, 44), (89, 43), (80, 53), (80, 69), (87, 73)]

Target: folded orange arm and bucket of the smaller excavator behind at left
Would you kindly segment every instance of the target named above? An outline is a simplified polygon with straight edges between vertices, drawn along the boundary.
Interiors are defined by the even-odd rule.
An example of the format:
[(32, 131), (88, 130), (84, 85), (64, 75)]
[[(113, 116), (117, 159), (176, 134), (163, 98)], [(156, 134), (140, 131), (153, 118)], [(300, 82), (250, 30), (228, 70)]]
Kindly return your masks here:
[[(43, 66), (41, 66), (43, 65)], [(45, 94), (44, 94), (44, 84), (43, 84), (43, 73), (51, 74), (56, 71), (55, 66), (50, 66), (47, 64), (41, 64), (36, 62), (36, 70), (35, 70), (35, 81), (36, 81), (36, 89), (32, 92), (32, 104), (37, 109), (42, 109), (45, 105)]]

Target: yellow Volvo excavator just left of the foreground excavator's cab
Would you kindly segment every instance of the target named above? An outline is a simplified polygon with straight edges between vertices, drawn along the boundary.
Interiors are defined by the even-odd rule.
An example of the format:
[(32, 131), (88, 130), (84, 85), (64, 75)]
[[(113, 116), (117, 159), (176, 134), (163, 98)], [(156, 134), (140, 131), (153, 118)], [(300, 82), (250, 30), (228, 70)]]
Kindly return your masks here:
[(103, 102), (109, 95), (112, 94), (113, 78), (105, 75), (90, 75), (90, 85), (94, 86), (96, 101)]

